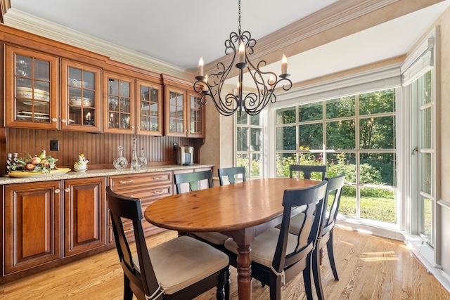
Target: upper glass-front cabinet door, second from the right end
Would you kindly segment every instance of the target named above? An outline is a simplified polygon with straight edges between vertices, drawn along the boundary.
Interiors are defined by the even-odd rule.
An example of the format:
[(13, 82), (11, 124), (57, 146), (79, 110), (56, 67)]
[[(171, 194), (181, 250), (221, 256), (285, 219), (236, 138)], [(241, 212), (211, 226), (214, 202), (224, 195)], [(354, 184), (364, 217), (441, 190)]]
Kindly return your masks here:
[(165, 135), (186, 136), (186, 91), (165, 86)]

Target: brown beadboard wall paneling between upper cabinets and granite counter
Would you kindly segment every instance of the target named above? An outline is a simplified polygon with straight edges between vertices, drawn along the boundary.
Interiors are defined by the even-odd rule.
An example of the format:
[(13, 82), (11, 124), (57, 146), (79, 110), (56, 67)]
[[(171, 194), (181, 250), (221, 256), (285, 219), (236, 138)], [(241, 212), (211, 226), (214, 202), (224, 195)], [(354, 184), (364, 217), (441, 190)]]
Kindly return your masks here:
[[(141, 148), (146, 151), (148, 165), (176, 164), (176, 151), (173, 144), (191, 145), (195, 152), (200, 152), (203, 145), (201, 138), (181, 138), (173, 136), (136, 136), (127, 134), (87, 133), (78, 131), (57, 131), (40, 129), (6, 129), (6, 152), (0, 152), (3, 159), (1, 166), (6, 172), (6, 153), (17, 152), (19, 157), (27, 154), (39, 155), (45, 149), (47, 155), (58, 159), (58, 167), (69, 167), (78, 159), (79, 154), (89, 159), (89, 169), (109, 169), (119, 156), (117, 147), (124, 147), (123, 156), (131, 161), (132, 138), (137, 138), (140, 156)], [(59, 151), (50, 151), (50, 141), (59, 141)], [(2, 149), (0, 148), (0, 151)], [(199, 155), (194, 162), (200, 163)]]

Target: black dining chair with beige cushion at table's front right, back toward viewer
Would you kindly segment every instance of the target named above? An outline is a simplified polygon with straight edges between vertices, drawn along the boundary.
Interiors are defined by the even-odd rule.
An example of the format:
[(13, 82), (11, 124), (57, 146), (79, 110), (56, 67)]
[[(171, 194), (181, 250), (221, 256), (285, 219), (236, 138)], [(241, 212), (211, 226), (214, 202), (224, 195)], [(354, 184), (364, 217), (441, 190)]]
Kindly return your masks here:
[[(303, 273), (307, 299), (313, 299), (311, 281), (311, 258), (316, 246), (321, 218), (326, 211), (326, 185), (300, 190), (285, 190), (283, 195), (283, 219), (281, 228), (269, 228), (257, 235), (252, 242), (252, 278), (270, 287), (270, 299), (281, 299), (281, 287)], [(317, 211), (316, 211), (317, 205)], [(304, 206), (304, 223), (297, 234), (289, 233), (291, 211)], [(316, 217), (314, 217), (316, 211)], [(229, 238), (225, 247), (237, 254), (237, 244)]]

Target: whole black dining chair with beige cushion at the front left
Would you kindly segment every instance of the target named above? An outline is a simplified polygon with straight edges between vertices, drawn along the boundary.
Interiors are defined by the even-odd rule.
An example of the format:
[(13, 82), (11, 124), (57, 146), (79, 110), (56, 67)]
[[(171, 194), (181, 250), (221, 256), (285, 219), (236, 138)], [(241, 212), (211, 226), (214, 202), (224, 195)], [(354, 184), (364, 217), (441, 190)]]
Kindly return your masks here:
[[(106, 188), (120, 264), (124, 299), (192, 299), (217, 287), (217, 299), (229, 299), (229, 257), (209, 244), (181, 236), (147, 249), (141, 200)], [(132, 254), (123, 221), (133, 223), (136, 254)]]

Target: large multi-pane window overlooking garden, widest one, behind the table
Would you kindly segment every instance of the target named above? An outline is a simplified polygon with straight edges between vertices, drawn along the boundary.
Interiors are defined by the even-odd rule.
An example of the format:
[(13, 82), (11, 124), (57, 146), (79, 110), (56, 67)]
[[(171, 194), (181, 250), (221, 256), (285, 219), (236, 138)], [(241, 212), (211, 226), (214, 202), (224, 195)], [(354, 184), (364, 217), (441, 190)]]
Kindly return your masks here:
[(395, 89), (363, 93), (275, 112), (276, 176), (289, 164), (326, 164), (345, 173), (340, 212), (397, 223)]

